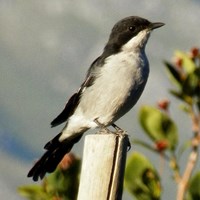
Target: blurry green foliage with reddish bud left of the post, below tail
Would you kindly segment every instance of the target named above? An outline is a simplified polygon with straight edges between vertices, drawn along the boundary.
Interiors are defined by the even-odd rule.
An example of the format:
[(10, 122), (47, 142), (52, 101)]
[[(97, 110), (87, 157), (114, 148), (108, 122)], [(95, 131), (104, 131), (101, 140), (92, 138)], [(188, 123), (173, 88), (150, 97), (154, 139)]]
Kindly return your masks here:
[(78, 193), (79, 174), (80, 160), (70, 154), (42, 185), (21, 186), (18, 190), (29, 200), (74, 200)]

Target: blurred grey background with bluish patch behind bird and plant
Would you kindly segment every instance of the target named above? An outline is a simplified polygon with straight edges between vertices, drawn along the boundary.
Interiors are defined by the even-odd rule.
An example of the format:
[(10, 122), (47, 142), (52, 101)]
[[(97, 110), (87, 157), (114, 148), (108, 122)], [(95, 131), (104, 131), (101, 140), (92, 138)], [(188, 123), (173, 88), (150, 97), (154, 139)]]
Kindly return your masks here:
[[(0, 0), (1, 198), (22, 199), (16, 188), (33, 183), (26, 178), (28, 170), (42, 155), (44, 144), (62, 129), (51, 129), (50, 122), (101, 54), (113, 25), (130, 15), (166, 24), (152, 33), (147, 45), (151, 73), (145, 92), (117, 122), (130, 138), (144, 138), (138, 109), (169, 97), (163, 60), (171, 59), (176, 49), (200, 46), (199, 10), (199, 0)], [(171, 101), (176, 109), (176, 100)], [(189, 137), (190, 122), (184, 115), (179, 118), (180, 112), (172, 117), (184, 139)], [(83, 141), (73, 149), (80, 157)], [(132, 146), (132, 150), (142, 149)], [(159, 163), (158, 157), (149, 157)], [(170, 181), (168, 166), (163, 176), (163, 199), (173, 199), (176, 185)], [(124, 199), (131, 198), (125, 194)]]

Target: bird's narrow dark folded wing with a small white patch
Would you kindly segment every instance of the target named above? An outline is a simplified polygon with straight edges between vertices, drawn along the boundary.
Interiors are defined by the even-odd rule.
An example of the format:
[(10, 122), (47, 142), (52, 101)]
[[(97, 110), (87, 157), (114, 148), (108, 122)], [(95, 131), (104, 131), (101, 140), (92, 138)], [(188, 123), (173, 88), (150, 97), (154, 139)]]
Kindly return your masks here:
[(95, 74), (93, 73), (96, 62), (99, 60), (99, 57), (92, 63), (90, 66), (86, 79), (79, 88), (79, 90), (74, 93), (71, 98), (68, 100), (64, 110), (51, 122), (51, 127), (58, 126), (62, 124), (63, 122), (67, 121), (67, 119), (74, 113), (76, 110), (76, 107), (79, 104), (79, 101), (81, 99), (81, 95), (85, 91), (87, 87), (90, 87), (95, 80)]

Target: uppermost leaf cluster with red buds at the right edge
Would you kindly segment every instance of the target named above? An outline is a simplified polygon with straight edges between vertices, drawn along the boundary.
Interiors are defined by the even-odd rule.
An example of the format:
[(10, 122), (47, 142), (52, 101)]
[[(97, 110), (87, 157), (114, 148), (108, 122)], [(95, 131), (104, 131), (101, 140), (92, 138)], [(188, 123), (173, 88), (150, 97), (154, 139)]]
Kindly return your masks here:
[[(177, 51), (175, 53), (177, 63), (171, 64), (165, 61), (169, 78), (176, 87), (176, 90), (171, 90), (171, 93), (192, 105), (199, 103), (200, 98), (200, 67), (199, 55), (191, 55)], [(197, 98), (195, 98), (197, 97)], [(195, 102), (193, 102), (195, 101)]]

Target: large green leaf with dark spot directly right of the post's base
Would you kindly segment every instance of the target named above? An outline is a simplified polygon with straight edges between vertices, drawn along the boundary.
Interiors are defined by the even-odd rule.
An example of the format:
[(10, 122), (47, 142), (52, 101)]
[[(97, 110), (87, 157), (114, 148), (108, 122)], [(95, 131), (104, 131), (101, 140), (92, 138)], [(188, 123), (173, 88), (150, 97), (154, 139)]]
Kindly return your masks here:
[(149, 160), (138, 152), (128, 157), (125, 187), (137, 200), (159, 200), (161, 184), (158, 173)]

